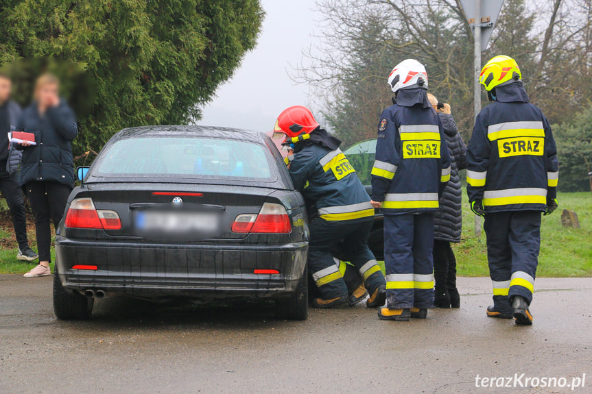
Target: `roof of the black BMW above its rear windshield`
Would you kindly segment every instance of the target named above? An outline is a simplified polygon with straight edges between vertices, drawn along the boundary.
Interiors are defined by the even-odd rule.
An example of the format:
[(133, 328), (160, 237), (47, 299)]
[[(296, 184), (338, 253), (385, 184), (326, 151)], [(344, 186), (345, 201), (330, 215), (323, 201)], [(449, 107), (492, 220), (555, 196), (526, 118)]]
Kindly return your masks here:
[(156, 136), (203, 136), (213, 138), (229, 138), (251, 142), (262, 142), (263, 133), (253, 130), (235, 129), (233, 127), (214, 127), (202, 125), (154, 125), (127, 127), (113, 136), (113, 140), (134, 137)]

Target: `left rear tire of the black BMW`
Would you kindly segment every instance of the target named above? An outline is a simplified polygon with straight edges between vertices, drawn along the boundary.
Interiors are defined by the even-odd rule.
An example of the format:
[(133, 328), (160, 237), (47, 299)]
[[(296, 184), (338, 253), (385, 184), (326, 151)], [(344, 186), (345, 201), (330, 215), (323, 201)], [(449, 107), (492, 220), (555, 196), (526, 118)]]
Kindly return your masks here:
[(54, 273), (54, 314), (60, 320), (86, 320), (93, 315), (95, 299), (68, 292), (62, 286), (56, 268)]

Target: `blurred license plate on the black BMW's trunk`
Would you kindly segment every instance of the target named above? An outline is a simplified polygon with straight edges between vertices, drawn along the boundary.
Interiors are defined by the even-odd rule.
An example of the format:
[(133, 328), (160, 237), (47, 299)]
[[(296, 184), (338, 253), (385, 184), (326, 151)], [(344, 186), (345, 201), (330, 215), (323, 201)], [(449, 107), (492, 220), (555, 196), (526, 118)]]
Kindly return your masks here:
[(213, 212), (141, 211), (136, 214), (136, 229), (141, 232), (216, 232), (220, 214)]

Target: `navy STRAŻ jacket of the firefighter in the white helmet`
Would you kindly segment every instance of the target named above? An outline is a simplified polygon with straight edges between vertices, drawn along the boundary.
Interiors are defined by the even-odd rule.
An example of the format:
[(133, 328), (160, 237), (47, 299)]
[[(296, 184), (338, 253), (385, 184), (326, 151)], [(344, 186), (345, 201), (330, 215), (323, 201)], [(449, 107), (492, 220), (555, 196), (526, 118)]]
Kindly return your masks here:
[(399, 90), (383, 111), (372, 168), (372, 199), (384, 214), (436, 212), (450, 179), (442, 122), (423, 88)]

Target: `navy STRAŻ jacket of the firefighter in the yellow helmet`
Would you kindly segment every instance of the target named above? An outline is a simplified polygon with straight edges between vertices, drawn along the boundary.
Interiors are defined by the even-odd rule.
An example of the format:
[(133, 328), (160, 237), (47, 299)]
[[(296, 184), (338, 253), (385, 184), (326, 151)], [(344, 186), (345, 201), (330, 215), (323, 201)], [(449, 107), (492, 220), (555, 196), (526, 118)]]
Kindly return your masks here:
[(467, 150), (469, 200), (486, 212), (540, 210), (556, 197), (558, 160), (549, 122), (522, 82), (498, 86), (475, 120)]

